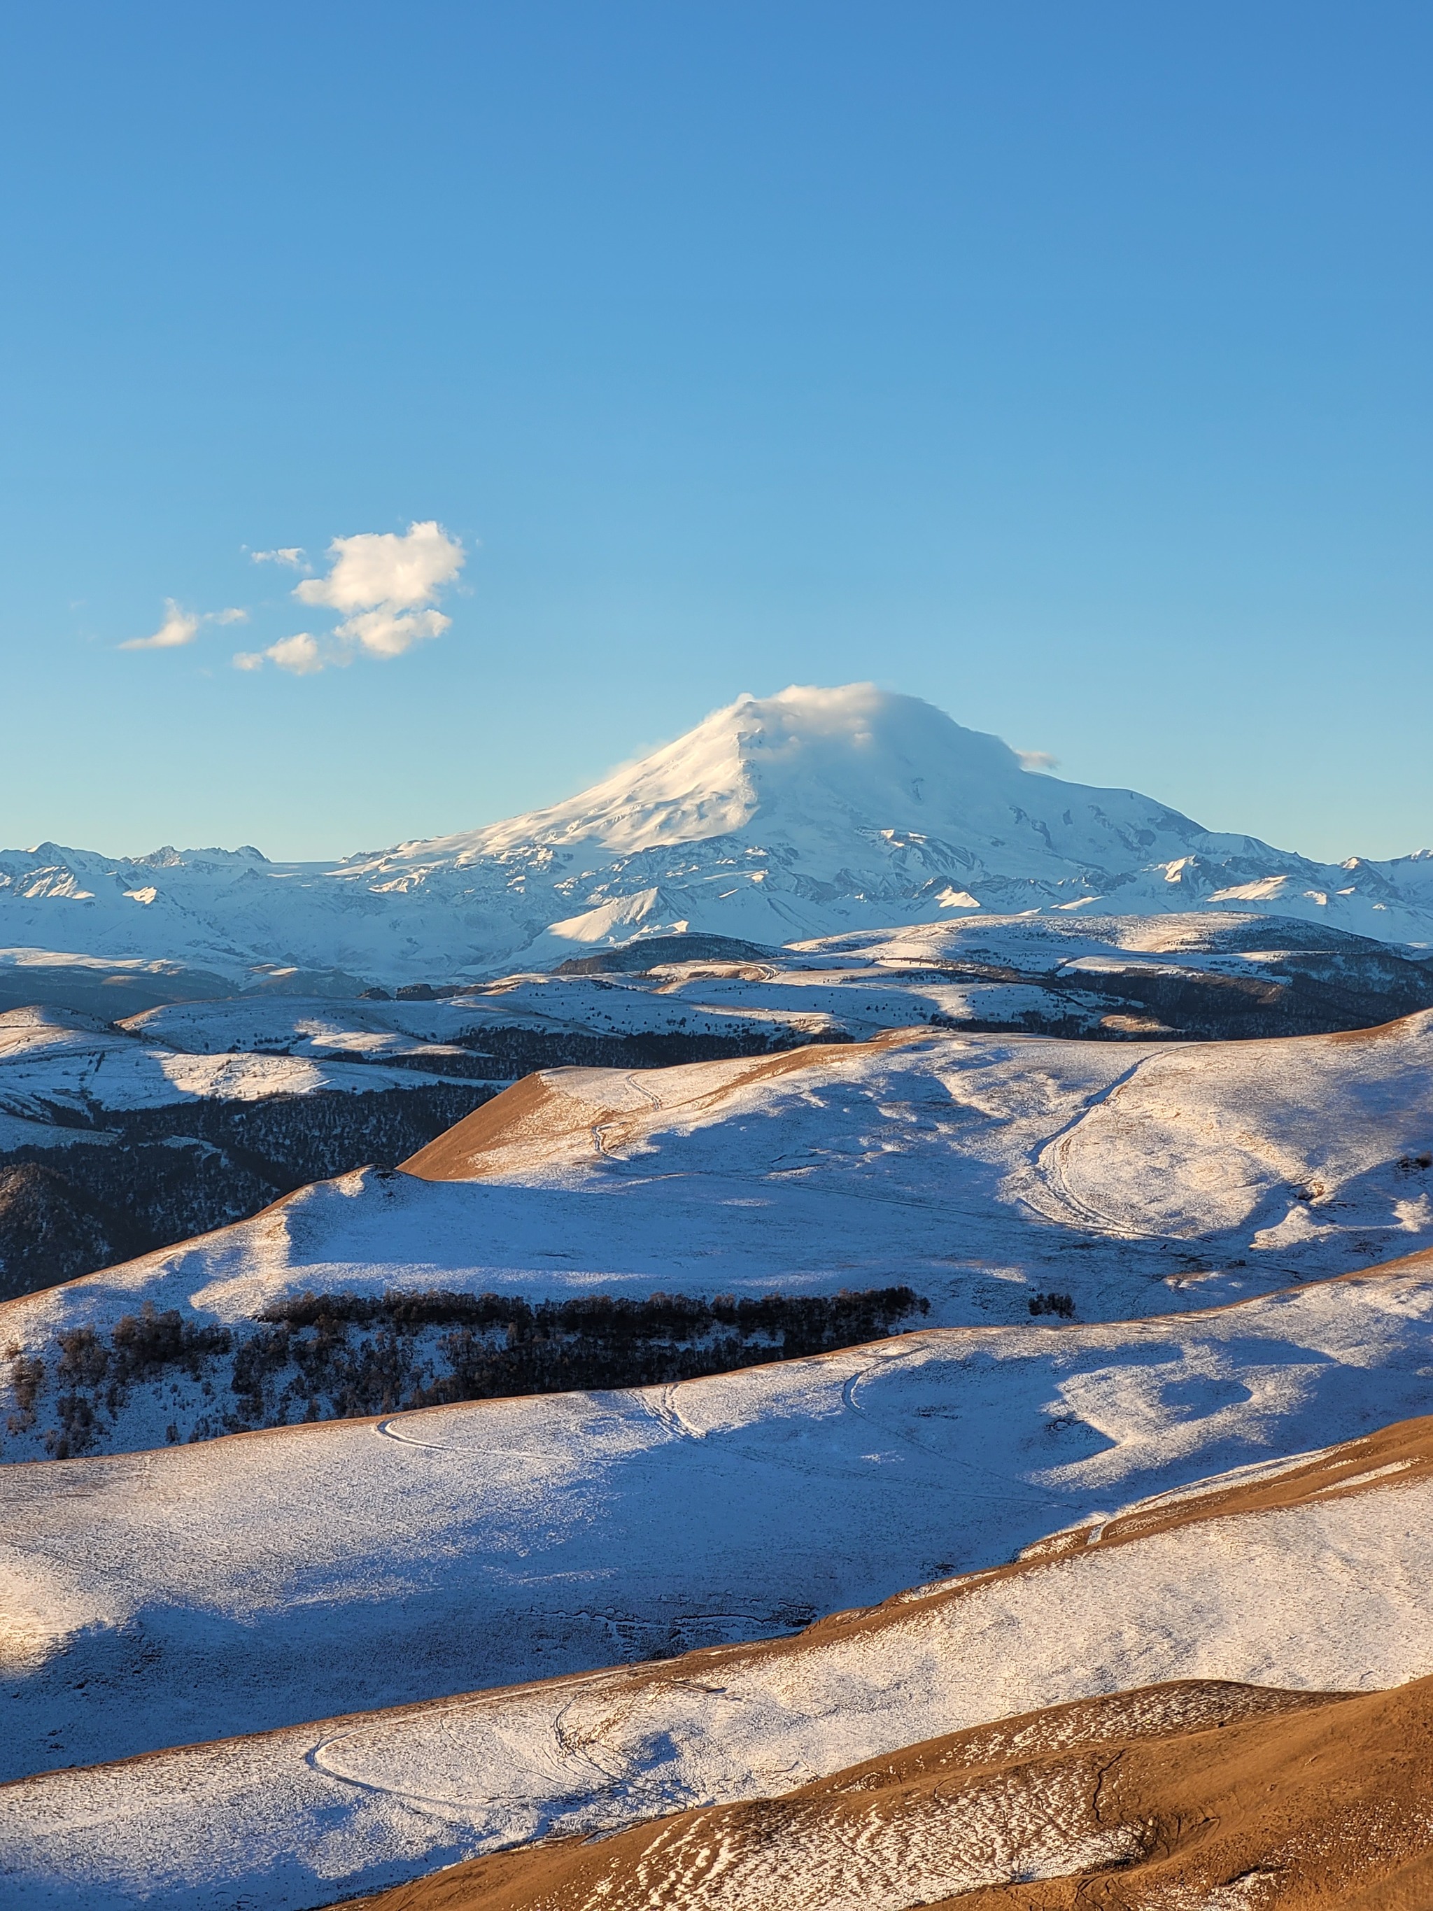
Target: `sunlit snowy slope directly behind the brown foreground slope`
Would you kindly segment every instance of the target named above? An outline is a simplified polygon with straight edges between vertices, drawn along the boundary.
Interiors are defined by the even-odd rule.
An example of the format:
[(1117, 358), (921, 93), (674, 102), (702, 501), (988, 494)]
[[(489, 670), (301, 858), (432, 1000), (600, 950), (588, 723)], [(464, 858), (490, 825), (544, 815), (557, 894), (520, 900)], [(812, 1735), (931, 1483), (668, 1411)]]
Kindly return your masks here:
[[(703, 1666), (709, 1670), (703, 1676)], [(1433, 1487), (1091, 1542), (783, 1649), (610, 1668), (59, 1770), (0, 1791), (15, 1911), (300, 1911), (543, 1833), (785, 1793), (1164, 1680), (1433, 1672)]]

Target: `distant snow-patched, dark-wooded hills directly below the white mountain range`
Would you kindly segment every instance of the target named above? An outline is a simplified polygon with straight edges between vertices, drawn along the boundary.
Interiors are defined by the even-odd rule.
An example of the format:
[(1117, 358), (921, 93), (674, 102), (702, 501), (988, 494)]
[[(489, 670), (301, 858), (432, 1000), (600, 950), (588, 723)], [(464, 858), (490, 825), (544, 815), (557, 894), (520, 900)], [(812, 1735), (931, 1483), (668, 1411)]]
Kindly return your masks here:
[[(75, 994), (67, 977), (94, 967), (101, 978)], [(237, 1221), (300, 1181), (403, 1160), (533, 1070), (648, 1070), (919, 1026), (1250, 1040), (1433, 1005), (1433, 961), (1393, 944), (1198, 912), (967, 913), (776, 952), (644, 936), (552, 973), (405, 992), (426, 999), (260, 986), (122, 1020), (138, 994), (124, 971), (118, 986), (103, 963), (10, 975), (69, 1005), (0, 1011), (6, 1298)], [(166, 975), (157, 965), (145, 992)]]

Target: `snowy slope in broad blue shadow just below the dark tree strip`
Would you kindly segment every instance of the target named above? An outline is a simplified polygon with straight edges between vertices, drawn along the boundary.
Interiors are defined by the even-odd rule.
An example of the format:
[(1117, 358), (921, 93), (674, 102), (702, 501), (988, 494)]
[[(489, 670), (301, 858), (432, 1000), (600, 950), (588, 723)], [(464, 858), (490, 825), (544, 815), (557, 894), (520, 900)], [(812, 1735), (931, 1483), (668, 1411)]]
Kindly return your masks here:
[(1433, 1257), (4, 1468), (0, 1779), (762, 1638), (1429, 1408)]

